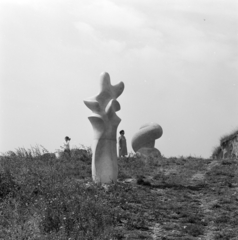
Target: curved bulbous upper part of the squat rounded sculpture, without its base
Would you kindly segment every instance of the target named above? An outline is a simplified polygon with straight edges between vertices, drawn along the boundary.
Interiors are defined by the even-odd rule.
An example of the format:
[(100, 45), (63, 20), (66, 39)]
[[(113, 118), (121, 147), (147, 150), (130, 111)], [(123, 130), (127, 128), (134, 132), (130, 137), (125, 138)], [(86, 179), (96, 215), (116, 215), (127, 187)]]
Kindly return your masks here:
[(155, 140), (163, 134), (161, 126), (157, 123), (147, 123), (140, 127), (133, 136), (131, 144), (135, 152), (141, 148), (154, 148)]

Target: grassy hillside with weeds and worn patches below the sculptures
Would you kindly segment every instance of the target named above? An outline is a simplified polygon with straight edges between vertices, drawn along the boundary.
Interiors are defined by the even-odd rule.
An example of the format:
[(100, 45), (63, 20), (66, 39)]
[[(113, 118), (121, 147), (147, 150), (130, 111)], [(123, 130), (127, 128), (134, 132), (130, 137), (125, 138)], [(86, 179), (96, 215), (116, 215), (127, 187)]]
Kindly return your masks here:
[(237, 239), (237, 161), (119, 159), (95, 185), (90, 152), (20, 153), (0, 160), (0, 239)]

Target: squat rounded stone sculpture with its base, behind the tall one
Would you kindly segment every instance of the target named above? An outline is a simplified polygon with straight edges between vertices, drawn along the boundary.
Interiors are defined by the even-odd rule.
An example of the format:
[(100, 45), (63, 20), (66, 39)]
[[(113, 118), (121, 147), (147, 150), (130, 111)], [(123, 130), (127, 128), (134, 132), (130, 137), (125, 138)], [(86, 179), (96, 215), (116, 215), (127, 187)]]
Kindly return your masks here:
[(162, 134), (163, 130), (157, 123), (149, 123), (141, 126), (132, 138), (131, 144), (133, 150), (145, 156), (161, 156), (160, 151), (154, 146), (155, 140), (160, 138)]

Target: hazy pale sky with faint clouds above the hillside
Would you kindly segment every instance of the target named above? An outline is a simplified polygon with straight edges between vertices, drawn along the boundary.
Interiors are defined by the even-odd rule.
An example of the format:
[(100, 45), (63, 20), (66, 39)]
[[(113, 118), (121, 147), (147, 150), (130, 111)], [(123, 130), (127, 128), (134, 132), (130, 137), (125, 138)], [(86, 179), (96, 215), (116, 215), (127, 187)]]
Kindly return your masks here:
[(238, 128), (238, 1), (1, 0), (0, 152), (90, 146), (83, 100), (104, 71), (125, 83), (129, 151), (155, 122), (166, 157), (209, 157)]

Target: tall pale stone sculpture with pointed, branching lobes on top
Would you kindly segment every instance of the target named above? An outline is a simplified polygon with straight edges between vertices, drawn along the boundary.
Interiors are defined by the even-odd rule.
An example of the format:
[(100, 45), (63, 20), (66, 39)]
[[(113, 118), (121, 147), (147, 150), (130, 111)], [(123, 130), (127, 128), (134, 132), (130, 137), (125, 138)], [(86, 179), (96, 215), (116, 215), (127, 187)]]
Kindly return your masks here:
[(121, 119), (116, 115), (120, 104), (116, 100), (124, 90), (124, 83), (111, 85), (108, 73), (100, 77), (100, 92), (85, 100), (92, 110), (88, 118), (94, 130), (92, 145), (92, 178), (96, 183), (116, 182), (118, 175), (116, 134)]

